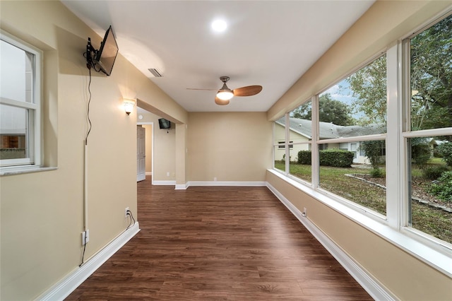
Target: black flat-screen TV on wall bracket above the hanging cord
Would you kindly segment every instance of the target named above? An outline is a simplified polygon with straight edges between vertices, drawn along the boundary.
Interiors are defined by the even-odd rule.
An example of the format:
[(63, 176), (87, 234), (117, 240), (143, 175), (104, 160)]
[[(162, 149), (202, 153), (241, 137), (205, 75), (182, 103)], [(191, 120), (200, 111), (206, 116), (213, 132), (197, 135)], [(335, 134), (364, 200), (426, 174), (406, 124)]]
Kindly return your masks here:
[(102, 71), (109, 76), (112, 73), (118, 51), (119, 48), (110, 25), (107, 33), (105, 33), (104, 40), (100, 43), (99, 50), (96, 50), (91, 45), (91, 39), (88, 37), (88, 45), (86, 47), (88, 68), (93, 67), (95, 71)]

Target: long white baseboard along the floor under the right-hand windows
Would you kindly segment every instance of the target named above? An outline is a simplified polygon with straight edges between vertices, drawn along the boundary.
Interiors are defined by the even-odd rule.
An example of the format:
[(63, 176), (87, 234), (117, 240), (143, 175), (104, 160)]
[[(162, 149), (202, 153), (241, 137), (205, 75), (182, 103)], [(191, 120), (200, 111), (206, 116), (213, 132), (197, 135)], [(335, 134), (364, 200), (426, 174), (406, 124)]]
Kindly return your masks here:
[(309, 218), (302, 215), (288, 199), (280, 194), (272, 185), (267, 183), (268, 189), (275, 194), (275, 196), (283, 203), (287, 209), (304, 225), (311, 234), (316, 237), (323, 247), (339, 262), (341, 266), (347, 270), (350, 275), (355, 278), (357, 283), (364, 288), (364, 290), (374, 298), (374, 300), (397, 300), (396, 296), (390, 293), (386, 288), (379, 284), (376, 279), (365, 271), (359, 264), (356, 263), (352, 257), (348, 256), (333, 240), (323, 233), (317, 226), (309, 220)]

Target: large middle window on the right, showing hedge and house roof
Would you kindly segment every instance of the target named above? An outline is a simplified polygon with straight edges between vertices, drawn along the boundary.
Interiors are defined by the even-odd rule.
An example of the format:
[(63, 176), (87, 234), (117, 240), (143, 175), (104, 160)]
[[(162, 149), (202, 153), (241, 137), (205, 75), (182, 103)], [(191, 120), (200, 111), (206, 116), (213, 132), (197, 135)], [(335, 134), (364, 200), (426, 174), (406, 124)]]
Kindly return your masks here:
[(386, 55), (319, 95), (319, 187), (383, 216), (386, 119)]

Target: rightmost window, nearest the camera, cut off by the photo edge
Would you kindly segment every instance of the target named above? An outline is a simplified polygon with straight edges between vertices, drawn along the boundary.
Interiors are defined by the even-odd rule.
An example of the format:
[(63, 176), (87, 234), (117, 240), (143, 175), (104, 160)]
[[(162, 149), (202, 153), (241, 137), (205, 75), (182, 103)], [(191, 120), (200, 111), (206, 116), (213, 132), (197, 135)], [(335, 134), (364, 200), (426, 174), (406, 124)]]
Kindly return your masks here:
[(410, 61), (405, 225), (452, 243), (452, 213), (444, 210), (452, 208), (452, 16), (405, 40), (405, 46)]

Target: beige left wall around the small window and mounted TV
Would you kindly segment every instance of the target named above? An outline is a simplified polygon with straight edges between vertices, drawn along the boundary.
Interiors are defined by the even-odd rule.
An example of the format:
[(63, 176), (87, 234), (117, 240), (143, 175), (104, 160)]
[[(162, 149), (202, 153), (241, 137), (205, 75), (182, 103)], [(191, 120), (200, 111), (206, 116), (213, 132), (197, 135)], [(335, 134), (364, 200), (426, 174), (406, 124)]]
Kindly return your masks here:
[[(82, 54), (88, 37), (97, 45), (101, 38), (59, 1), (1, 1), (0, 13), (2, 30), (44, 50), (44, 162), (57, 167), (0, 179), (0, 299), (31, 300), (81, 263), (88, 101)], [(85, 261), (129, 225), (124, 208), (136, 215), (136, 112), (127, 116), (122, 98), (140, 98), (181, 122), (188, 117), (121, 55), (112, 76), (93, 71), (91, 92)]]

